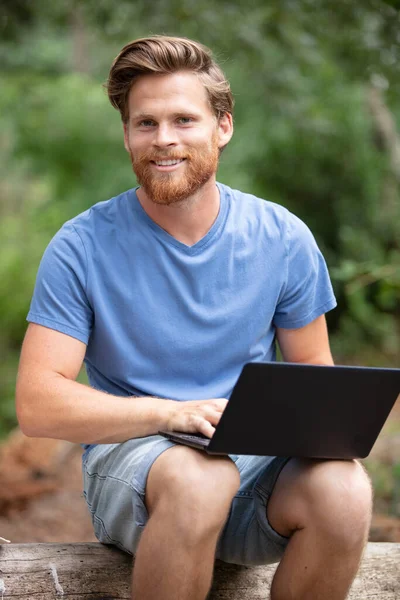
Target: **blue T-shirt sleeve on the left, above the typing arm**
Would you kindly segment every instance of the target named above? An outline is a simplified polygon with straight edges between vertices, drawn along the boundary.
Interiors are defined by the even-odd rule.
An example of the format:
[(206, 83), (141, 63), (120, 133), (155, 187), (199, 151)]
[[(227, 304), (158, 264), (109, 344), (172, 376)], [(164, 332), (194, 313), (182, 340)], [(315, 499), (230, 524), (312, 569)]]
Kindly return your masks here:
[(42, 257), (27, 320), (87, 344), (93, 311), (86, 295), (87, 260), (71, 223), (54, 236)]

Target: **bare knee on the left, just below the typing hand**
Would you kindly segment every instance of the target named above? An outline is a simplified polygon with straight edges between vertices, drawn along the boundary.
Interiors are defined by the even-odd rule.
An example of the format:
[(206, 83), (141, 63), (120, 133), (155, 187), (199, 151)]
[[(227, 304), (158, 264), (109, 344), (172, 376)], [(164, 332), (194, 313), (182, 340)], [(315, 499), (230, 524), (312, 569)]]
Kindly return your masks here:
[(174, 447), (150, 471), (146, 504), (150, 515), (196, 537), (221, 529), (239, 486), (239, 471), (229, 458)]

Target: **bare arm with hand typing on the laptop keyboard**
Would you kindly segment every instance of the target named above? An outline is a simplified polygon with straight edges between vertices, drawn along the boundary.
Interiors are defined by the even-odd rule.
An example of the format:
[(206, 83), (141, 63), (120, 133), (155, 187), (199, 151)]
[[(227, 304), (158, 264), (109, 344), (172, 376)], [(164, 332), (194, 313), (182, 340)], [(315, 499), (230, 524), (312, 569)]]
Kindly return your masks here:
[(226, 400), (176, 402), (94, 390), (75, 381), (85, 350), (73, 337), (29, 325), (16, 388), (17, 417), (26, 435), (111, 444), (159, 429), (214, 432)]

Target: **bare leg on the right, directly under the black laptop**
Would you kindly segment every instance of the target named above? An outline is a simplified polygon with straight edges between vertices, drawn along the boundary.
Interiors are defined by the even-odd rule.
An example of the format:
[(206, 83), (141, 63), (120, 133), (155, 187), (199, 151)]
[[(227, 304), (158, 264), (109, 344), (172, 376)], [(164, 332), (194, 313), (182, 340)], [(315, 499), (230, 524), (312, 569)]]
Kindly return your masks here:
[(368, 538), (372, 493), (353, 461), (290, 461), (268, 505), (268, 518), (290, 542), (271, 600), (344, 600)]

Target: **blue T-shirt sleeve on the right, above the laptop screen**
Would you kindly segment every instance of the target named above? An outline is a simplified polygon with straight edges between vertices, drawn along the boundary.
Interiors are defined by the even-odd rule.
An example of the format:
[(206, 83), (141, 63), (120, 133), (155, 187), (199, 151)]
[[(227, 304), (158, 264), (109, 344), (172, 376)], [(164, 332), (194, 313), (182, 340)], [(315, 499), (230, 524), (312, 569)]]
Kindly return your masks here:
[(290, 214), (285, 285), (274, 325), (298, 329), (336, 306), (328, 268), (309, 228)]

